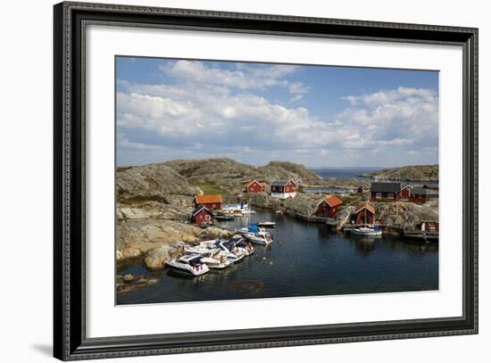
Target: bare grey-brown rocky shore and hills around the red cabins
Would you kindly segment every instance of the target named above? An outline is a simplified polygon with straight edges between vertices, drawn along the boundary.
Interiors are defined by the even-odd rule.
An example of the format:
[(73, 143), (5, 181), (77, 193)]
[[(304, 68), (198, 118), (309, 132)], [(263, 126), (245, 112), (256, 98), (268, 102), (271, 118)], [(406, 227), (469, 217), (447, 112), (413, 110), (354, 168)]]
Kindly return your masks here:
[[(182, 174), (181, 174), (182, 173)], [(220, 227), (196, 227), (187, 222), (193, 210), (193, 198), (203, 194), (200, 186), (210, 181), (213, 186), (227, 190), (227, 202), (248, 201), (253, 207), (287, 213), (290, 216), (313, 216), (325, 194), (299, 193), (293, 199), (279, 200), (270, 194), (244, 194), (243, 182), (248, 177), (268, 173), (270, 177), (295, 177), (300, 185), (331, 186), (354, 189), (357, 179), (323, 179), (303, 166), (274, 161), (255, 168), (229, 159), (209, 161), (170, 161), (142, 167), (117, 170), (117, 227), (116, 259), (118, 263), (132, 258), (142, 259), (148, 270), (163, 268), (165, 263), (179, 256), (183, 243), (196, 243), (215, 238), (229, 238), (233, 232)], [(367, 183), (362, 183), (367, 184)], [(349, 194), (341, 197), (343, 205), (335, 216), (339, 230), (349, 220), (356, 205), (367, 195)], [(433, 204), (431, 204), (433, 203)], [(374, 203), (376, 219), (387, 225), (412, 228), (421, 219), (437, 219), (437, 203), (423, 205), (411, 202)], [(135, 287), (127, 277), (118, 277), (126, 292)], [(145, 284), (154, 284), (153, 280)]]

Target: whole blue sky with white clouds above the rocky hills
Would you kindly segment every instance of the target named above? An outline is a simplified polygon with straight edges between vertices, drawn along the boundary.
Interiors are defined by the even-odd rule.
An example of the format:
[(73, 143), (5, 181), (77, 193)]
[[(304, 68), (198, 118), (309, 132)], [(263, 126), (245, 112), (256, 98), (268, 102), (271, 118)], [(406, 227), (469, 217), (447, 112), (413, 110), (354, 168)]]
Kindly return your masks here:
[(438, 72), (118, 57), (118, 165), (438, 162)]

